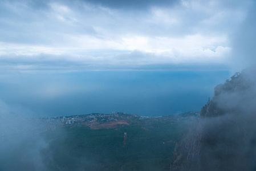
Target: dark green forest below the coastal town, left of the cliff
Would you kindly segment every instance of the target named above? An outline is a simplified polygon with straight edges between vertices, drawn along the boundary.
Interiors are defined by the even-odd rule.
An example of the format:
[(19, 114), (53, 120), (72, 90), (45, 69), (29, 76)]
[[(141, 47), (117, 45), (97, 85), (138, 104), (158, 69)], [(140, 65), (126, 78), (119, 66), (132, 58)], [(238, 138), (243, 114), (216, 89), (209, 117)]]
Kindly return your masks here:
[(174, 145), (191, 120), (134, 120), (117, 129), (58, 128), (43, 133), (48, 143), (43, 161), (50, 170), (169, 170)]

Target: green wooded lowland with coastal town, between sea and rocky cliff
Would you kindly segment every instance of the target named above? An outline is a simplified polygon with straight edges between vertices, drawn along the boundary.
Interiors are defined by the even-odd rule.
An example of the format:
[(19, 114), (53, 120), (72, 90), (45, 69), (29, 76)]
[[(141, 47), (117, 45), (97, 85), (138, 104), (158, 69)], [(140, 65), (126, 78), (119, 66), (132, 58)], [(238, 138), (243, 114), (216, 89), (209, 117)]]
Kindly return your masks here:
[[(169, 170), (174, 145), (198, 116), (120, 112), (22, 119), (18, 123), (36, 126), (8, 146), (0, 170)], [(0, 141), (9, 137), (2, 133)]]

